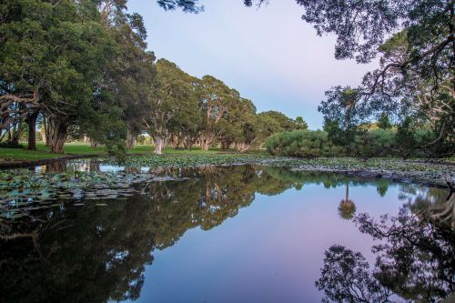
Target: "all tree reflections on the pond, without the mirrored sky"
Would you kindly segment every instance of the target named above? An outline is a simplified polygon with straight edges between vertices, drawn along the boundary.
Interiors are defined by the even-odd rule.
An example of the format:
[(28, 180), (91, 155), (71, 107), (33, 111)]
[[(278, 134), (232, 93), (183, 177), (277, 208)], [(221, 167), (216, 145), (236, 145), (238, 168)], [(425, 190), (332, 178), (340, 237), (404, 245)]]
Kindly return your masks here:
[[(42, 169), (103, 169), (90, 162), (62, 166)], [(125, 169), (128, 173), (143, 171)], [(343, 187), (346, 197), (339, 204), (340, 216), (352, 218), (356, 206), (349, 187), (376, 187), (383, 197), (393, 185), (387, 180), (302, 173), (285, 167), (162, 168), (148, 173), (153, 180), (136, 184), (133, 197), (102, 205), (60, 201), (60, 207), (30, 209), (25, 217), (0, 221), (0, 301), (136, 300), (141, 297), (146, 267), (152, 265), (155, 251), (173, 247), (189, 229), (208, 230), (236, 217), (258, 194)], [(319, 188), (321, 193), (323, 190)], [(321, 290), (341, 292), (358, 283), (363, 293), (370, 294), (370, 302), (389, 298), (392, 292), (402, 298), (420, 298), (423, 293), (444, 298), (453, 291), (453, 232), (433, 224), (438, 217), (453, 224), (453, 199), (440, 202), (440, 197), (447, 196), (440, 189), (403, 185), (399, 191), (405, 202), (399, 217), (384, 217), (379, 222), (367, 215), (355, 217), (361, 232), (382, 240), (375, 247), (380, 258), (377, 266), (371, 270), (361, 255), (332, 247), (321, 277), (330, 280), (319, 280)], [(427, 197), (425, 201), (423, 197)], [(430, 217), (431, 225), (422, 224), (423, 217)], [(406, 237), (401, 239), (401, 235)], [(343, 271), (346, 269), (350, 272)], [(419, 279), (422, 273), (426, 279)], [(335, 301), (348, 298), (332, 298), (327, 291), (326, 297)]]

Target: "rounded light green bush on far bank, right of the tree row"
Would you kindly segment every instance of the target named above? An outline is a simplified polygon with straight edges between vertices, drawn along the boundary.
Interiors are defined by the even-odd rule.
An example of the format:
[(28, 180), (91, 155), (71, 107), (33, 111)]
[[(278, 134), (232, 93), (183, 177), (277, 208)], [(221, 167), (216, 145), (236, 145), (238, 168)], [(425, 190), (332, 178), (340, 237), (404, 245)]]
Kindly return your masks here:
[(274, 156), (331, 157), (342, 156), (344, 149), (334, 146), (325, 131), (295, 130), (269, 136), (265, 147)]

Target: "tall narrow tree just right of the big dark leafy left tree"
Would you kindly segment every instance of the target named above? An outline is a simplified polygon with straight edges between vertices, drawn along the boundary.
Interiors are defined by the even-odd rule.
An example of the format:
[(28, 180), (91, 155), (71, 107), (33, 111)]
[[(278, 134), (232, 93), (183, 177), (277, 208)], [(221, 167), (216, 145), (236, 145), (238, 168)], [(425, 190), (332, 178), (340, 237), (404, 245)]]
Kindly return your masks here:
[(127, 14), (126, 1), (100, 1), (98, 11), (118, 47), (118, 55), (106, 66), (100, 89), (106, 89), (114, 98), (114, 106), (122, 109), (121, 120), (127, 128), (126, 146), (134, 148), (136, 136), (144, 128), (149, 89), (157, 73), (155, 55), (147, 51), (147, 30), (142, 16)]

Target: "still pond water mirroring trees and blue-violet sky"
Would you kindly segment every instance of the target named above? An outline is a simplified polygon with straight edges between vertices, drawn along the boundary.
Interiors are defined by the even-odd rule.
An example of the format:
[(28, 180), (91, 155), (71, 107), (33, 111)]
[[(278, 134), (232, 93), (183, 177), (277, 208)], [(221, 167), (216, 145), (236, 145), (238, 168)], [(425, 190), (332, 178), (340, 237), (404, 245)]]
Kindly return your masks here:
[[(62, 171), (97, 175), (62, 189), (72, 178)], [(444, 189), (287, 167), (89, 160), (14, 182), (44, 173), (59, 176), (45, 183), (59, 184), (57, 196), (39, 185), (0, 191), (1, 302), (454, 299), (455, 198)]]

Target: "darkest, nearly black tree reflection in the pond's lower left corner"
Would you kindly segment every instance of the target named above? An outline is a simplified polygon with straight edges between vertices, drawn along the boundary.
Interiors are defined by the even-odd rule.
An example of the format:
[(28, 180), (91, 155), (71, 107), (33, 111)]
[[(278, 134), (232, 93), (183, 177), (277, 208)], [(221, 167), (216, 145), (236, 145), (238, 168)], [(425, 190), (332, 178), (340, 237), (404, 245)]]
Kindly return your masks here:
[[(138, 298), (144, 266), (152, 261), (153, 237), (141, 227), (147, 205), (110, 201), (109, 207), (70, 208), (42, 213), (41, 222), (14, 223), (15, 234), (3, 233), (0, 301)], [(33, 237), (22, 237), (27, 234)]]

